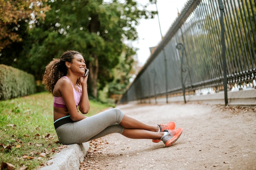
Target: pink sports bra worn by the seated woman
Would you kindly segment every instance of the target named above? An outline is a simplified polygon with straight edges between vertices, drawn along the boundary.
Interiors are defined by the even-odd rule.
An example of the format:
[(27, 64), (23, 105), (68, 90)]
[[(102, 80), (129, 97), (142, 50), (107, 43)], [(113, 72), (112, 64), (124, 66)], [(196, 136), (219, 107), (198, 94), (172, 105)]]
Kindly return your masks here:
[[(63, 77), (67, 78), (70, 81), (70, 79), (67, 76), (63, 76)], [(70, 83), (71, 83), (71, 81), (70, 81)], [(76, 89), (74, 88), (73, 84), (72, 84), (72, 87), (73, 87), (73, 92), (74, 92), (75, 103), (76, 103), (76, 106), (78, 106), (79, 102), (80, 102), (80, 99), (81, 99), (81, 89), (79, 88), (78, 85), (76, 85), (76, 87), (79, 90), (79, 92), (77, 92)], [(66, 104), (65, 104), (62, 96), (61, 97), (53, 96), (53, 106), (67, 109)]]

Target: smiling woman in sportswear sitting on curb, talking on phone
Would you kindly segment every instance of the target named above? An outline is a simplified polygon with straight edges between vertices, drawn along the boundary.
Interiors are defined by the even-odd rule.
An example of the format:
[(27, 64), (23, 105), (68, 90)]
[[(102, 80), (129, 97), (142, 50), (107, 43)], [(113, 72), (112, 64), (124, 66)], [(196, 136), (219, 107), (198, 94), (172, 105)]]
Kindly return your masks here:
[[(120, 133), (132, 139), (153, 139), (171, 146), (183, 129), (175, 129), (175, 123), (151, 126), (125, 115), (114, 108), (86, 117), (90, 109), (85, 61), (77, 51), (66, 51), (60, 59), (53, 59), (45, 70), (43, 84), (54, 96), (54, 127), (62, 144), (79, 144)], [(79, 113), (77, 106), (81, 113)]]

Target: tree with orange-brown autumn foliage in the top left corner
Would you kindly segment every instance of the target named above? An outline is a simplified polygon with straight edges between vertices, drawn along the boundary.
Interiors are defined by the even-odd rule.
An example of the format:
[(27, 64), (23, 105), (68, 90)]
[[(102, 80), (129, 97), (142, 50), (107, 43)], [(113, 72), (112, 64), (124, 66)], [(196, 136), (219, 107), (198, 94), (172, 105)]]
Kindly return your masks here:
[(44, 19), (45, 11), (42, 0), (0, 0), (0, 52), (14, 42), (22, 41), (20, 28), (29, 22)]

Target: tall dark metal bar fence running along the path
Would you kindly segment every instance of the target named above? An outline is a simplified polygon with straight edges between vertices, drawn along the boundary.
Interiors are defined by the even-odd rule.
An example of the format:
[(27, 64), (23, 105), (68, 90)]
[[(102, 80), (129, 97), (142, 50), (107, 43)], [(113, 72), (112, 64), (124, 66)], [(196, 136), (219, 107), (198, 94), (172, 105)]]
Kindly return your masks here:
[(255, 0), (189, 0), (120, 102), (255, 88), (255, 15)]

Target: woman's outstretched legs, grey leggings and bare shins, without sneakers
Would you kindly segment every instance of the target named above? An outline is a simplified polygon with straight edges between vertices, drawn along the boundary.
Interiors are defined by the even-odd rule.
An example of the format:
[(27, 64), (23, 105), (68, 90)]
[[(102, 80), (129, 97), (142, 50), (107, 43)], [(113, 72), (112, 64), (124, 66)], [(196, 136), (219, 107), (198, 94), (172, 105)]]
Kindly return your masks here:
[[(119, 124), (119, 125), (114, 125)], [(96, 139), (110, 133), (121, 133), (134, 139), (160, 139), (159, 127), (144, 124), (114, 108), (56, 129), (59, 141), (74, 144)]]

